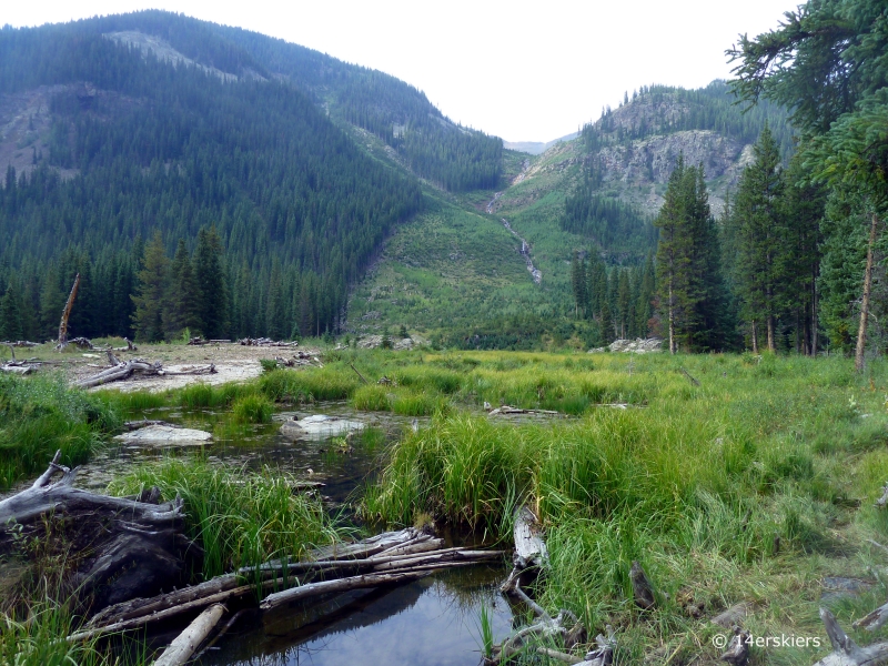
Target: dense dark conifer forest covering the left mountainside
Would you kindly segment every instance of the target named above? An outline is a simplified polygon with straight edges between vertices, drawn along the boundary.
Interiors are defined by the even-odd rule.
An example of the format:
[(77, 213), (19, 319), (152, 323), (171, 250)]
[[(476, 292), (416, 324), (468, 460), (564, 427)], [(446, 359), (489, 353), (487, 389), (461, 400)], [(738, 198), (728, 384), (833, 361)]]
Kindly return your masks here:
[[(254, 65), (223, 56), (214, 62)], [(160, 232), (169, 253), (180, 241), (195, 251), (213, 225), (232, 305), (219, 335), (291, 335), (294, 309), (295, 334), (335, 330), (347, 286), (421, 208), (415, 182), (365, 157), (286, 83), (173, 68), (91, 22), (3, 30), (0, 92), (41, 84), (54, 87), (46, 141), (30, 172), (10, 167), (0, 190), (0, 286), (22, 312), (50, 311), (80, 272), (90, 305), (72, 322), (79, 334), (132, 335), (140, 239)], [(235, 307), (239, 294), (255, 312)], [(7, 333), (47, 335), (41, 319)]]

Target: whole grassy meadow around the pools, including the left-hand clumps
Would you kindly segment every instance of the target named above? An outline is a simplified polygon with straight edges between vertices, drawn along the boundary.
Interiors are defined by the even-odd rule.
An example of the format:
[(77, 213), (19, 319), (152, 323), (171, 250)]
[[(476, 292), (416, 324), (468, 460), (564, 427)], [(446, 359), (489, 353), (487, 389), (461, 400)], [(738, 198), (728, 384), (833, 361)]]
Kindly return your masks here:
[[(84, 394), (58, 382), (2, 385), (0, 404), (20, 414), (0, 431), (17, 481), (33, 472), (14, 446), (31, 423), (52, 431), (51, 420), (64, 422), (46, 451), (85, 442), (70, 445), (72, 457), (85, 457), (140, 410), (212, 407), (236, 425), (265, 422), (281, 404), (347, 401), (356, 411), (431, 417), (382, 450), (377, 474), (357, 491), (363, 528), (431, 519), (507, 543), (513, 511), (529, 504), (549, 548), (538, 601), (553, 614), (573, 610), (593, 635), (612, 625), (617, 663), (716, 659), (713, 639), (725, 629), (709, 618), (739, 603), (756, 636), (825, 639), (825, 605), (860, 644), (885, 637), (850, 628), (888, 596), (888, 556), (868, 541), (888, 544), (888, 517), (874, 507), (888, 481), (880, 359), (857, 374), (841, 357), (345, 349), (327, 351), (323, 369), (219, 387)], [(487, 416), (485, 403), (559, 415), (513, 421)], [(342, 537), (345, 526), (320, 503), (281, 492), (287, 483), (276, 471), (245, 482), (238, 474), (172, 460), (111, 490), (159, 485), (193, 504), (191, 534), (218, 545), (208, 576)], [(653, 612), (632, 602), (633, 561), (654, 585)], [(837, 576), (862, 582), (859, 592), (821, 598)], [(810, 664), (825, 652), (754, 647), (751, 663)]]

